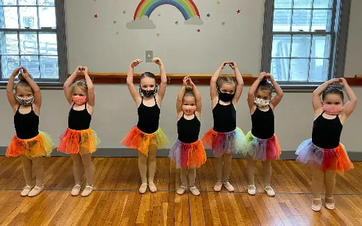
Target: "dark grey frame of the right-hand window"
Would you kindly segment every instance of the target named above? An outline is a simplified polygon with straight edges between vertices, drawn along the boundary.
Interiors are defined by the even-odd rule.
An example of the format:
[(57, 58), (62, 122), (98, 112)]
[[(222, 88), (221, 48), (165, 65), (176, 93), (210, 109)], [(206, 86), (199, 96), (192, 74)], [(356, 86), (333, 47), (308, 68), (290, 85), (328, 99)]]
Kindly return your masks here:
[[(352, 0), (333, 0), (333, 8), (336, 12), (332, 12), (333, 34), (331, 35), (331, 51), (329, 62), (329, 74), (327, 79), (343, 77), (345, 70), (345, 55), (347, 50), (347, 36), (349, 26), (349, 11)], [(274, 18), (274, 0), (265, 0), (264, 26), (262, 35), (262, 59), (260, 71), (270, 71), (272, 62), (272, 45), (273, 45), (273, 18)], [(317, 32), (275, 32), (285, 35), (318, 34)], [(278, 81), (283, 87), (291, 90), (308, 90), (314, 89), (323, 82), (296, 82), (296, 81)]]

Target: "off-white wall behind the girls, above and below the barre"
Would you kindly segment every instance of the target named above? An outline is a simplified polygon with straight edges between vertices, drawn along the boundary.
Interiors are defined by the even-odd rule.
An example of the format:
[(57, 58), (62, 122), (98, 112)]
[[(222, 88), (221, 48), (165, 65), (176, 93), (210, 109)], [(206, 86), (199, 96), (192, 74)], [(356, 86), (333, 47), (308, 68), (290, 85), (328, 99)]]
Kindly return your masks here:
[[(230, 28), (225, 27), (225, 31), (217, 30), (205, 32), (207, 26), (202, 26), (202, 34), (189, 33), (187, 26), (180, 28), (180, 33), (170, 28), (164, 29), (168, 25), (163, 24), (164, 19), (155, 18), (157, 31), (129, 31), (125, 28), (125, 23), (129, 21), (127, 15), (123, 19), (122, 11), (136, 5), (136, 1), (129, 1), (129, 6), (122, 6), (124, 1), (86, 1), (67, 0), (66, 20), (67, 20), (67, 43), (68, 43), (68, 64), (69, 72), (78, 64), (90, 67), (91, 71), (113, 71), (125, 72), (129, 61), (141, 57), (145, 50), (154, 50), (157, 55), (164, 59), (168, 73), (213, 73), (222, 60), (235, 60), (244, 73), (258, 73), (260, 70), (260, 54), (262, 46), (262, 1), (242, 1), (239, 8), (243, 9), (241, 21), (233, 21), (234, 15), (228, 15), (230, 8), (212, 6), (211, 3), (200, 5), (200, 13), (205, 15), (207, 8), (212, 14), (212, 19), (217, 14), (225, 14), (226, 22), (233, 24)], [(195, 1), (200, 4), (201, 1)], [(204, 2), (204, 1), (203, 1)], [(214, 1), (213, 1), (214, 2)], [(225, 1), (222, 1), (225, 2)], [(238, 1), (230, 1), (230, 4), (237, 5)], [(165, 6), (165, 9), (168, 6)], [(219, 6), (218, 6), (219, 7)], [(362, 1), (352, 1), (351, 17), (349, 21), (349, 38), (347, 45), (347, 62), (345, 75), (352, 76), (362, 73), (357, 59), (361, 59), (362, 40), (360, 10)], [(107, 12), (109, 10), (109, 12)], [(113, 12), (113, 11), (115, 12)], [(173, 10), (173, 8), (170, 8)], [(117, 12), (116, 12), (117, 11)], [(112, 13), (113, 12), (113, 13)], [(93, 13), (100, 15), (97, 21), (93, 20)], [(129, 12), (133, 13), (133, 12)], [(160, 11), (165, 17), (169, 17), (168, 12)], [(171, 13), (171, 12), (170, 12)], [(106, 17), (106, 18), (104, 18)], [(230, 18), (229, 18), (230, 17)], [(119, 22), (119, 28), (114, 30), (110, 23), (113, 18)], [(204, 18), (203, 18), (204, 19)], [(217, 20), (219, 19), (219, 20)], [(218, 21), (221, 21), (217, 17)], [(227, 20), (228, 19), (228, 20)], [(182, 18), (179, 18), (182, 21)], [(104, 26), (101, 26), (101, 25)], [(118, 24), (118, 23), (117, 23)], [(200, 26), (201, 27), (201, 26)], [(159, 29), (159, 30), (158, 30)], [(192, 26), (192, 29), (194, 27)], [(216, 28), (215, 28), (216, 29)], [(217, 28), (219, 29), (219, 28)], [(113, 32), (119, 31), (116, 37)], [(162, 31), (162, 32), (161, 32)], [(155, 33), (161, 33), (162, 40), (157, 40)], [(204, 33), (205, 32), (205, 33)], [(113, 35), (113, 36), (111, 36)], [(196, 38), (202, 35), (200, 38)], [(111, 37), (110, 37), (111, 36)], [(158, 37), (158, 38), (159, 38)], [(226, 38), (226, 42), (220, 43), (221, 38)], [(172, 43), (169, 42), (172, 40)], [(192, 42), (191, 42), (192, 41)], [(186, 49), (186, 46), (188, 49)], [(152, 64), (143, 64), (136, 68), (137, 72), (154, 71), (157, 67)], [(230, 73), (231, 71), (226, 71)], [(171, 142), (176, 138), (175, 121), (175, 98), (178, 94), (178, 85), (168, 85), (160, 125)], [(250, 116), (246, 105), (246, 92), (249, 87), (244, 88), (244, 94), (239, 101), (237, 109), (237, 125), (247, 132), (251, 128)], [(360, 103), (356, 111), (343, 128), (342, 141), (347, 150), (362, 152), (361, 141), (361, 100), (362, 87), (353, 87)], [(120, 148), (120, 139), (128, 132), (129, 128), (136, 124), (136, 106), (129, 96), (125, 85), (96, 85), (96, 105), (95, 114), (92, 120), (92, 128), (101, 138), (101, 148)], [(212, 112), (210, 107), (209, 87), (200, 86), (203, 98), (203, 114), (201, 123), (202, 135), (212, 127)], [(1, 134), (0, 146), (7, 146), (13, 136), (13, 114), (6, 101), (5, 90), (0, 90), (0, 125)], [(40, 130), (48, 132), (58, 141), (58, 136), (67, 127), (69, 107), (63, 97), (61, 90), (42, 91), (43, 104), (40, 117)], [(308, 139), (312, 130), (313, 112), (310, 103), (311, 94), (308, 93), (286, 93), (281, 105), (278, 106), (276, 114), (276, 133), (283, 150), (294, 150), (304, 139)]]

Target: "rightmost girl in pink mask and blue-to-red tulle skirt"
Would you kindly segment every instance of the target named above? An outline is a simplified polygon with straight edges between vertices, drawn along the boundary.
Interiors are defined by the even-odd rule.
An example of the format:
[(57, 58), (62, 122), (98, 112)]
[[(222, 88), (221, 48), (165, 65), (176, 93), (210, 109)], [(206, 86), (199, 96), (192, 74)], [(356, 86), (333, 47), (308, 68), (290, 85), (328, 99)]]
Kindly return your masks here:
[[(339, 82), (345, 88), (349, 98), (345, 105), (343, 92), (336, 87), (328, 87), (333, 82)], [(345, 78), (326, 81), (313, 92), (312, 139), (301, 143), (296, 154), (298, 162), (312, 166), (312, 209), (314, 211), (320, 211), (322, 208), (320, 194), (323, 190), (323, 181), (326, 187), (325, 206), (327, 209), (334, 209), (333, 190), (336, 185), (336, 172), (343, 173), (353, 168), (345, 147), (340, 143), (340, 132), (346, 119), (356, 107), (356, 103), (356, 95)]]

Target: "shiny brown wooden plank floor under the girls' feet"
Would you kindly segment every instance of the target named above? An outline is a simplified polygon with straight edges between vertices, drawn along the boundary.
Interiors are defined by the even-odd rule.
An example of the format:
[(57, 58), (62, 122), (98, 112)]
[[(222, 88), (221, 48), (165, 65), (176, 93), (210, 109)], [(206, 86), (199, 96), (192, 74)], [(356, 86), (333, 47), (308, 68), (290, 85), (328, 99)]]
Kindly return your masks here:
[(230, 182), (234, 193), (212, 191), (213, 159), (197, 172), (201, 195), (177, 195), (179, 171), (168, 158), (157, 158), (157, 193), (140, 195), (137, 159), (95, 157), (95, 191), (72, 197), (74, 185), (69, 157), (45, 159), (45, 191), (21, 197), (24, 186), (19, 159), (0, 157), (0, 225), (362, 225), (362, 162), (337, 177), (336, 209), (310, 209), (310, 172), (294, 161), (272, 163), (269, 198), (260, 184), (258, 193), (246, 193), (246, 161), (233, 159)]

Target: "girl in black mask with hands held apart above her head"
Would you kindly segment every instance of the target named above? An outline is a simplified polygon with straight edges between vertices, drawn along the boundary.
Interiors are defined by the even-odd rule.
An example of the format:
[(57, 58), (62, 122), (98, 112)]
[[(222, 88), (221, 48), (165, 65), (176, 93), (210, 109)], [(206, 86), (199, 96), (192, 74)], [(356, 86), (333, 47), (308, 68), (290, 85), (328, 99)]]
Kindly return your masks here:
[[(145, 72), (140, 77), (139, 92), (133, 84), (134, 67), (142, 60), (134, 60), (129, 64), (127, 73), (127, 87), (134, 102), (138, 106), (139, 123), (134, 126), (121, 143), (132, 149), (138, 149), (139, 174), (141, 186), (139, 193), (143, 194), (147, 186), (151, 192), (156, 192), (157, 187), (153, 182), (156, 171), (156, 150), (168, 145), (168, 140), (161, 128), (159, 128), (159, 113), (166, 92), (166, 71), (159, 58), (153, 58), (153, 62), (159, 65), (161, 84), (157, 92), (156, 76)], [(148, 174), (148, 177), (147, 177)]]

